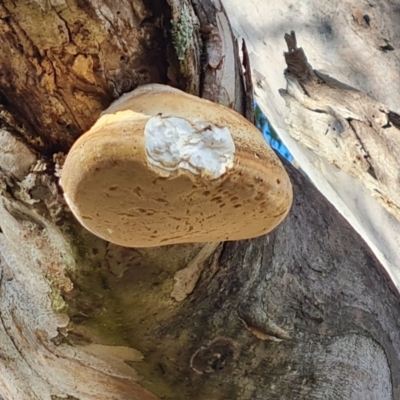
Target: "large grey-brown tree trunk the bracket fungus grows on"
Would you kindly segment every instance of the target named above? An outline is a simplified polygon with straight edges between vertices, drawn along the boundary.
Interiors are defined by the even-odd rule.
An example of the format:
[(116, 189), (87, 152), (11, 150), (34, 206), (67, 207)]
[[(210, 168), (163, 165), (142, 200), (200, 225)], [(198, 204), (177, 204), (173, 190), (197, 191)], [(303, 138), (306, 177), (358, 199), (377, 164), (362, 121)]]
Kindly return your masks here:
[(5, 0), (0, 33), (5, 400), (400, 397), (398, 293), (290, 165), (291, 212), (253, 240), (123, 248), (63, 201), (64, 153), (138, 85), (251, 118), (218, 0)]

